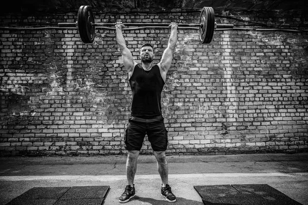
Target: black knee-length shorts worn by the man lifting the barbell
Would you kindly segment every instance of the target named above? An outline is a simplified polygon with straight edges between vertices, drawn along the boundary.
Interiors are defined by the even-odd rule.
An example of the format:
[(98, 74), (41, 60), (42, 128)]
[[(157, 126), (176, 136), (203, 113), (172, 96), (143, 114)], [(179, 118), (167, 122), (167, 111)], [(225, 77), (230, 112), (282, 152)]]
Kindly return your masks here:
[(140, 151), (145, 134), (147, 134), (153, 151), (166, 151), (168, 144), (167, 132), (162, 116), (151, 119), (130, 116), (124, 139), (126, 150)]

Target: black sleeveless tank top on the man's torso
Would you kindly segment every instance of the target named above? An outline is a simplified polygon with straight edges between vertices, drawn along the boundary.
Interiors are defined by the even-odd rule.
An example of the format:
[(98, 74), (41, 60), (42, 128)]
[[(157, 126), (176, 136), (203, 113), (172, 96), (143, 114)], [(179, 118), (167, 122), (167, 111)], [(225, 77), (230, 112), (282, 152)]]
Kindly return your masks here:
[(137, 64), (129, 84), (132, 91), (131, 116), (151, 118), (162, 115), (161, 93), (165, 82), (158, 65), (145, 71)]

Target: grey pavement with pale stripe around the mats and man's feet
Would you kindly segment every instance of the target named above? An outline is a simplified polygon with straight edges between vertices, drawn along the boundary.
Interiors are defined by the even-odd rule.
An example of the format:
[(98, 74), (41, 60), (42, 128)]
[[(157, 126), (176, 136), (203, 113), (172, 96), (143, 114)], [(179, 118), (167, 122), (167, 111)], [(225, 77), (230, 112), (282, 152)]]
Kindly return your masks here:
[[(308, 205), (308, 153), (169, 155), (169, 184), (175, 204), (203, 205), (194, 186), (266, 184)], [(104, 205), (121, 204), (126, 156), (0, 157), (0, 205), (33, 187), (109, 186)], [(160, 195), (153, 155), (140, 155), (136, 197), (125, 204), (170, 204)]]

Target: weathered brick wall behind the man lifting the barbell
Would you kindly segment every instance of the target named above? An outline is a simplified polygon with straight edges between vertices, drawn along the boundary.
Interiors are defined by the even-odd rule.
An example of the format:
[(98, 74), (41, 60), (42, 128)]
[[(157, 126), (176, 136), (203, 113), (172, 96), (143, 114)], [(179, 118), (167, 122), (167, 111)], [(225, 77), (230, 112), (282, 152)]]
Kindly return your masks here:
[[(304, 12), (222, 12), (218, 23), (302, 25)], [(228, 18), (219, 16), (229, 16)], [(199, 12), (95, 13), (116, 22), (198, 23)], [(241, 19), (241, 20), (236, 20)], [(2, 25), (56, 26), (76, 13), (3, 14)], [(131, 91), (114, 30), (85, 45), (75, 29), (0, 30), (0, 152), (122, 154)], [(139, 46), (155, 45), (158, 63), (168, 29), (125, 30)], [(168, 153), (306, 152), (307, 32), (216, 31), (209, 45), (198, 30), (179, 29), (162, 93)], [(145, 140), (142, 153), (151, 153)]]

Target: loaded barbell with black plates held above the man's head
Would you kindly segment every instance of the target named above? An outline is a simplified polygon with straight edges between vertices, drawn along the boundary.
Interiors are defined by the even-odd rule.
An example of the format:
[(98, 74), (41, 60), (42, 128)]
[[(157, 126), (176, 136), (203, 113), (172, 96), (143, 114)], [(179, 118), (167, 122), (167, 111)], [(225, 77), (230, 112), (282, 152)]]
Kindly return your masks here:
[[(151, 26), (168, 27), (165, 23), (123, 23), (125, 26)], [(92, 8), (81, 6), (78, 10), (78, 21), (76, 23), (59, 23), (59, 27), (78, 28), (81, 40), (85, 43), (93, 43), (95, 37), (95, 26), (114, 26), (114, 23), (95, 23)], [(209, 44), (213, 38), (216, 28), (233, 28), (233, 24), (217, 24), (212, 7), (203, 7), (200, 14), (199, 24), (178, 24), (179, 27), (199, 27), (199, 39), (202, 44)]]

